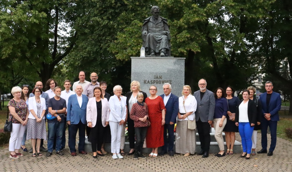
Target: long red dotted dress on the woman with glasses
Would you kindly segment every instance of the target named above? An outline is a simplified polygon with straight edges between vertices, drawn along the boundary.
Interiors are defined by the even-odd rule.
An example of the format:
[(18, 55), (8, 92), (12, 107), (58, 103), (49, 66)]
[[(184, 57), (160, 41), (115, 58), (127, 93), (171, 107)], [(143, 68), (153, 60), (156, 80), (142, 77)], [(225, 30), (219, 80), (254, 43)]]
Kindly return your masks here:
[(162, 109), (165, 109), (162, 97), (151, 100), (146, 98), (145, 103), (148, 106), (148, 116), (151, 125), (147, 129), (146, 145), (148, 148), (156, 148), (164, 145), (162, 122)]

